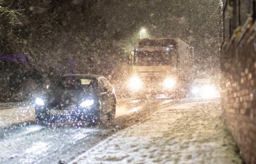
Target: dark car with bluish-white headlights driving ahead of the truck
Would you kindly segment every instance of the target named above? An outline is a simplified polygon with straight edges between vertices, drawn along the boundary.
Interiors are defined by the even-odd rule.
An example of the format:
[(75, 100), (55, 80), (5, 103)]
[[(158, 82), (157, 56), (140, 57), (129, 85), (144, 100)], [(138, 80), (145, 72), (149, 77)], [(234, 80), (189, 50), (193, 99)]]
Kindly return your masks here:
[(35, 100), (38, 123), (82, 120), (95, 124), (102, 116), (112, 120), (115, 113), (114, 87), (99, 75), (61, 76)]

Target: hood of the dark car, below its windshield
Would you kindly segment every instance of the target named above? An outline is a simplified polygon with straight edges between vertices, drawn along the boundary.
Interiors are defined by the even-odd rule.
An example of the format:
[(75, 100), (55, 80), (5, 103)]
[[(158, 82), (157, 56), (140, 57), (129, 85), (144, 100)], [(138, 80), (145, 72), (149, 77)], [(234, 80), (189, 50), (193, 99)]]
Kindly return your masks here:
[(78, 104), (85, 99), (97, 98), (94, 91), (84, 90), (49, 90), (44, 97), (46, 104)]

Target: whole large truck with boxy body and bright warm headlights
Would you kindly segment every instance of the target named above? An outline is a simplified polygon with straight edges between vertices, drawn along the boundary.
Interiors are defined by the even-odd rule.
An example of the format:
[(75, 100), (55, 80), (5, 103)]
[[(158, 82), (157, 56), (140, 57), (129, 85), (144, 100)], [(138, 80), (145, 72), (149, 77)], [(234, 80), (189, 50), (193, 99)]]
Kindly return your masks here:
[(179, 38), (138, 39), (130, 52), (128, 88), (134, 97), (185, 97), (194, 75), (194, 48)]

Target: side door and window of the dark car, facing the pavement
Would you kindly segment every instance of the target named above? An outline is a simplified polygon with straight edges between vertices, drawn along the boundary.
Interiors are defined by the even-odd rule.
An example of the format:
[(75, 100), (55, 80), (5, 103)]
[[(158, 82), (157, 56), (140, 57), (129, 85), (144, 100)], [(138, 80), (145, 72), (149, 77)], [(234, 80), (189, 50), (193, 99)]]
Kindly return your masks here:
[(99, 99), (101, 101), (102, 106), (102, 114), (105, 114), (108, 112), (109, 109), (109, 89), (108, 85), (103, 81), (103, 78), (99, 79)]

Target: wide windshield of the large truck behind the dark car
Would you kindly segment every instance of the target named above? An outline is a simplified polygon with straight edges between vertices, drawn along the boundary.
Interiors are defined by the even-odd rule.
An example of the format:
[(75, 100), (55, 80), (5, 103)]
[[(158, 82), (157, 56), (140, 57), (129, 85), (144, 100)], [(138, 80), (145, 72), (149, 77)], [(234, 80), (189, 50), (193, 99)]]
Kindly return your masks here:
[(134, 56), (135, 66), (164, 66), (171, 65), (172, 58), (168, 51), (138, 51)]

